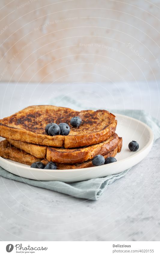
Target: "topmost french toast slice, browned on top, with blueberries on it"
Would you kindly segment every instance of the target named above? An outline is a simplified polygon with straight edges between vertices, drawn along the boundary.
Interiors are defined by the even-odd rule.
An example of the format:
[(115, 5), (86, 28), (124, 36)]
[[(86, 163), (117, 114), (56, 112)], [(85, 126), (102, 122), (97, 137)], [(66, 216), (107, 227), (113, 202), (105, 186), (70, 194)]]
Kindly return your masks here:
[[(74, 116), (82, 119), (78, 128), (70, 125)], [(67, 123), (69, 135), (49, 136), (45, 126), (51, 122)], [(15, 141), (23, 141), (52, 147), (77, 148), (106, 141), (116, 130), (115, 116), (106, 110), (83, 110), (56, 106), (29, 106), (0, 120), (0, 136)]]

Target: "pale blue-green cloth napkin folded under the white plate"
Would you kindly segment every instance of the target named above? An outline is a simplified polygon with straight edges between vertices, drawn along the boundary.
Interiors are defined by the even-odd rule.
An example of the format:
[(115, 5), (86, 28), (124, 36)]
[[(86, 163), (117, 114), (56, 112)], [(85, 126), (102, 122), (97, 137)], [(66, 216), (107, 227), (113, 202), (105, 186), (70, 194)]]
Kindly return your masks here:
[[(154, 133), (154, 140), (160, 137), (160, 122), (156, 121), (146, 112), (142, 110), (110, 110), (110, 112), (136, 118), (146, 123), (152, 129)], [(26, 179), (14, 175), (0, 167), (0, 175), (2, 177), (24, 182), (36, 187), (58, 191), (60, 193), (68, 194), (77, 198), (85, 198), (90, 200), (98, 200), (110, 184), (112, 184), (115, 180), (123, 177), (128, 171), (129, 169), (115, 175), (108, 175), (104, 178), (90, 179), (83, 182), (65, 183), (59, 181), (36, 181)]]

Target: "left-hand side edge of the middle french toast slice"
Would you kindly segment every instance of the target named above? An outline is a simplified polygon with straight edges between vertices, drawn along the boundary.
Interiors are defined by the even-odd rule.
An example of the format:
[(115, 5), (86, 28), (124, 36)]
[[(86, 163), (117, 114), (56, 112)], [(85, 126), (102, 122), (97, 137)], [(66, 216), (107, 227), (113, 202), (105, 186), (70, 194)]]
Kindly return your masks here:
[(47, 154), (46, 146), (35, 145), (28, 142), (14, 141), (9, 139), (7, 139), (7, 141), (10, 142), (10, 144), (13, 145), (14, 147), (24, 150), (25, 152), (31, 154), (32, 156), (35, 156), (41, 159), (46, 158), (46, 154)]

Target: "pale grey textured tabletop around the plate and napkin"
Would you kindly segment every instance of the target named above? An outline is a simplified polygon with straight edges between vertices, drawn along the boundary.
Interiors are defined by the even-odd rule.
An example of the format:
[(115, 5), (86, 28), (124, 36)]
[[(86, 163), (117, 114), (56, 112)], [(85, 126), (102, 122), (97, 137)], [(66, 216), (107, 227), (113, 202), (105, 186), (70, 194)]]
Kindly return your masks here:
[[(89, 108), (145, 109), (160, 119), (156, 83), (0, 84), (2, 117), (27, 105), (64, 102)], [(26, 90), (24, 88), (26, 87)], [(7, 88), (7, 89), (6, 89)], [(86, 92), (78, 92), (85, 90)], [(71, 106), (70, 102), (66, 106)], [(0, 239), (4, 241), (159, 241), (160, 139), (149, 155), (114, 182), (99, 201), (87, 201), (0, 178)]]

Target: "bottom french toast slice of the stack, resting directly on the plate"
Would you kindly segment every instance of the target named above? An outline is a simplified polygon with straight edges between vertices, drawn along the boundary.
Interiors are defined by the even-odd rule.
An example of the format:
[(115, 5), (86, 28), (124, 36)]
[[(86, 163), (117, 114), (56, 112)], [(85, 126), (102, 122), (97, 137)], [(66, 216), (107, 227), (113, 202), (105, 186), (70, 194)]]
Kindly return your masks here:
[[(116, 156), (117, 152), (120, 152), (122, 148), (122, 138), (119, 137), (118, 146), (111, 152), (104, 155), (104, 158), (108, 158), (110, 156)], [(27, 165), (31, 165), (34, 162), (43, 162), (47, 164), (47, 160), (42, 160), (36, 158), (35, 156), (26, 153), (24, 150), (20, 150), (14, 146), (12, 146), (7, 140), (0, 142), (0, 156), (3, 158), (11, 159), (15, 162), (24, 163)], [(86, 168), (92, 167), (92, 160), (84, 161), (83, 163), (75, 163), (75, 164), (65, 164), (65, 163), (56, 163), (58, 169), (78, 169), (78, 168)]]

